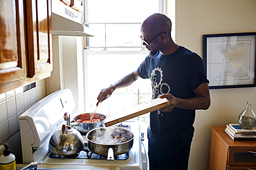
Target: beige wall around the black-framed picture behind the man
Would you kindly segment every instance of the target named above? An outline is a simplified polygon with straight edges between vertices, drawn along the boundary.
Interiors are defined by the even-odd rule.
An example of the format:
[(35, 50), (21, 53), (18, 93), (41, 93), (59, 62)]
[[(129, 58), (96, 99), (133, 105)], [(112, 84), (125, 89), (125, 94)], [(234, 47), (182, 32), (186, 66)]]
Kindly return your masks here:
[[(203, 34), (256, 32), (256, 1), (179, 0), (176, 1), (175, 23), (176, 43), (203, 57)], [(255, 87), (211, 89), (210, 95), (210, 108), (196, 111), (190, 170), (208, 169), (211, 126), (237, 123), (237, 116), (247, 101), (256, 111)]]

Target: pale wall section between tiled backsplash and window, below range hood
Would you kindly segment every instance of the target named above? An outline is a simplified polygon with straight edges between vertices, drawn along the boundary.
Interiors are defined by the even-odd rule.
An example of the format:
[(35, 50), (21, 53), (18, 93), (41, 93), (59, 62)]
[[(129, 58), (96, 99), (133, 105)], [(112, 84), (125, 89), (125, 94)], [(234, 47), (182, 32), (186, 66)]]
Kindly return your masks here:
[(83, 67), (82, 37), (53, 36), (53, 72), (46, 78), (47, 94), (58, 89), (71, 89), (75, 100), (73, 116), (84, 112)]

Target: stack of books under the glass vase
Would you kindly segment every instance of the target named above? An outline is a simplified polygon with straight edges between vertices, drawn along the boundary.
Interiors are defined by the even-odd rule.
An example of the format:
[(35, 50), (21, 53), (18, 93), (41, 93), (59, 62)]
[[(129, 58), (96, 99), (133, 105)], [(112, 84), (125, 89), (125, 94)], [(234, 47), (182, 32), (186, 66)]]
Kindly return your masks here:
[(228, 124), (225, 131), (232, 140), (256, 140), (256, 127), (243, 129), (239, 124)]

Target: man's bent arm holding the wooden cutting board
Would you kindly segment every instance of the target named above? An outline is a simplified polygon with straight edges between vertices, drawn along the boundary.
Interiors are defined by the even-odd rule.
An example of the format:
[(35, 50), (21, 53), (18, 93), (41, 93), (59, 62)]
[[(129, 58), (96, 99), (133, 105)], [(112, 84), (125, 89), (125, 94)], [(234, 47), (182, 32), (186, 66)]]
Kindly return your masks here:
[(161, 111), (172, 111), (174, 107), (181, 109), (208, 109), (210, 107), (210, 92), (208, 83), (203, 83), (194, 89), (195, 98), (176, 98), (172, 94), (163, 94), (160, 98), (167, 98), (170, 105), (161, 109)]

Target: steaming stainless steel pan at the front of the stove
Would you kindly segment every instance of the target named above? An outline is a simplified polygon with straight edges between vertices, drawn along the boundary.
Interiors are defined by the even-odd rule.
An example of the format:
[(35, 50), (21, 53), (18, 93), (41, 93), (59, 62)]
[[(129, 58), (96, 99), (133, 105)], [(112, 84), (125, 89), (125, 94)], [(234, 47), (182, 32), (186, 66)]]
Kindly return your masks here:
[[(117, 144), (105, 144), (93, 141), (94, 138), (100, 137), (104, 139), (118, 134), (124, 135), (128, 140)], [(113, 156), (128, 153), (134, 144), (134, 134), (129, 129), (122, 127), (100, 127), (93, 129), (86, 134), (86, 139), (88, 140), (88, 148), (91, 152), (101, 156), (107, 156), (108, 160), (113, 160)]]

